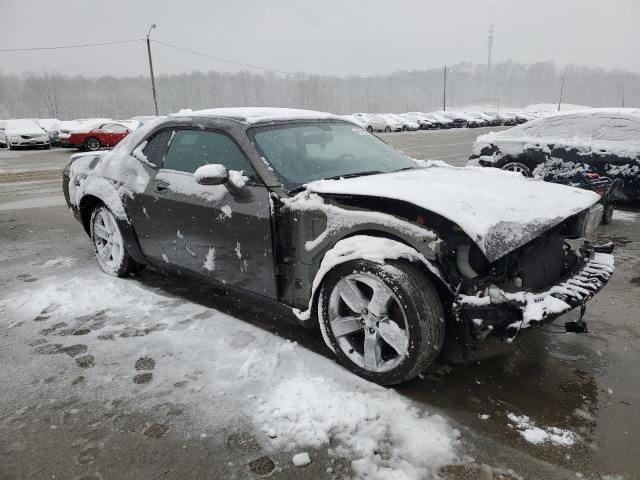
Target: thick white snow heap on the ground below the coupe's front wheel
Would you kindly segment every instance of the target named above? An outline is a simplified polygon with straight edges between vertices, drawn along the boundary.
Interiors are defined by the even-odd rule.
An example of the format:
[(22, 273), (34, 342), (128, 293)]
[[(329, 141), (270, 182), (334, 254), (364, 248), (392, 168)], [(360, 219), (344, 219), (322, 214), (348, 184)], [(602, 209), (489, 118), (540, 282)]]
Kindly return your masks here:
[(257, 408), (254, 421), (275, 429), (274, 447), (335, 446), (356, 458), (358, 478), (420, 479), (455, 460), (459, 433), (444, 418), (425, 415), (392, 390), (361, 382), (345, 389), (319, 376), (282, 381)]

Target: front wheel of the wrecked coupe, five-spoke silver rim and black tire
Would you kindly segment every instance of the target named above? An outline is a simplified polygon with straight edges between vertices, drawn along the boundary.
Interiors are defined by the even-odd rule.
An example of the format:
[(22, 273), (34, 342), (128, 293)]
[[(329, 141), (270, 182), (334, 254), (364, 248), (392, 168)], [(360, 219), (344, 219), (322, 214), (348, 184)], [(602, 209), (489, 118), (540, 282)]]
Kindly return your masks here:
[(325, 342), (347, 369), (380, 385), (410, 380), (435, 360), (444, 317), (435, 287), (409, 262), (345, 262), (319, 292)]

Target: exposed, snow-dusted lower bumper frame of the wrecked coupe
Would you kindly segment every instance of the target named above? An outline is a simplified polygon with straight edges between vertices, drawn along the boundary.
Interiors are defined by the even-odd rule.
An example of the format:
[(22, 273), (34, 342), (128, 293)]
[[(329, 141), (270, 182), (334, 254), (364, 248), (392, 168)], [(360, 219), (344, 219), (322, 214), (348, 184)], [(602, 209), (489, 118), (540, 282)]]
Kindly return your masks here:
[[(600, 250), (600, 251), (598, 251)], [(582, 249), (582, 262), (560, 282), (541, 292), (506, 292), (492, 285), (475, 295), (458, 295), (454, 313), (469, 321), (476, 340), (489, 334), (515, 337), (522, 329), (548, 323), (568, 311), (581, 307), (604, 288), (614, 271), (614, 257), (598, 247)], [(586, 330), (586, 325), (584, 326)], [(580, 331), (575, 327), (567, 331)]]

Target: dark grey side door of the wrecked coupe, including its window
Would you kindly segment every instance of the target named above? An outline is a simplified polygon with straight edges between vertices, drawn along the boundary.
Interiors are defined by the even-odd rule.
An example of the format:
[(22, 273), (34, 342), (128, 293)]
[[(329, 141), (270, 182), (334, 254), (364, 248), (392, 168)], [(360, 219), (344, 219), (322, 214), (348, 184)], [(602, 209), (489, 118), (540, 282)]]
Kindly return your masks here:
[[(269, 191), (238, 144), (222, 130), (176, 128), (163, 135), (166, 152), (140, 198), (143, 253), (160, 265), (276, 298)], [(235, 195), (225, 185), (200, 185), (193, 173), (205, 164), (243, 171), (248, 181)]]

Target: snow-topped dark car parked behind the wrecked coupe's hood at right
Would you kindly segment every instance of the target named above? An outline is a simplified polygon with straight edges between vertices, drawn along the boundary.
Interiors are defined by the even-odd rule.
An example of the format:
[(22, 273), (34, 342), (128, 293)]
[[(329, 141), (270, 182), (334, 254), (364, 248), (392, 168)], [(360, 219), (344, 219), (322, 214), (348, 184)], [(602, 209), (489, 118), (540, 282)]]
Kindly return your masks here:
[(640, 109), (571, 110), (481, 135), (469, 162), (545, 179), (597, 173), (640, 199)]

